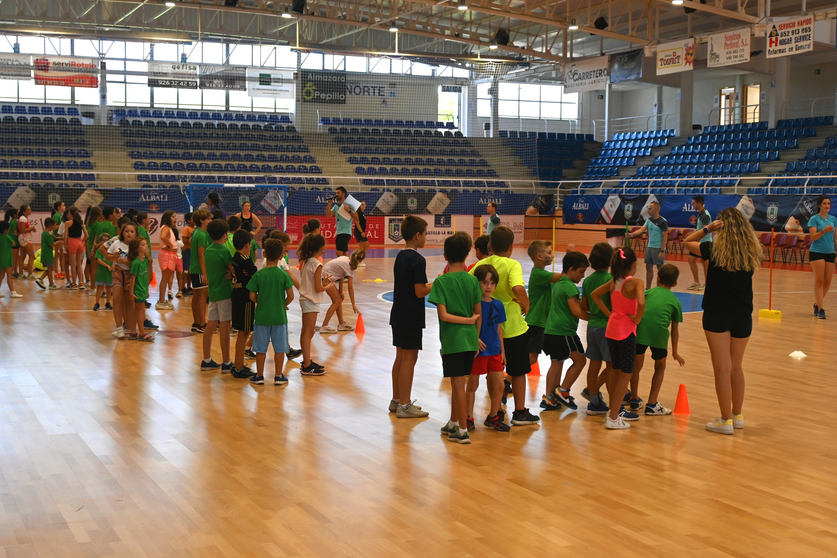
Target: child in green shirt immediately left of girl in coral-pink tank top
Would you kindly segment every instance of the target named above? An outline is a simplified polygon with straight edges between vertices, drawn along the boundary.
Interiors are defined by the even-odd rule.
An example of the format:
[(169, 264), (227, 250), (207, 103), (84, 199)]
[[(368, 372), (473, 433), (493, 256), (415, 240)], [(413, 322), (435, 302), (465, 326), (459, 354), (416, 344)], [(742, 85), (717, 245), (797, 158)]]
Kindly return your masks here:
[[(612, 256), (613, 247), (607, 242), (599, 242), (593, 246), (590, 251), (590, 267), (593, 268), (593, 273), (581, 285), (581, 309), (590, 313), (590, 319), (587, 322), (586, 355), (590, 364), (587, 366), (587, 387), (581, 392), (581, 396), (590, 402), (587, 405), (588, 415), (604, 415), (610, 410), (600, 391), (605, 382), (611, 381), (610, 375), (613, 371), (613, 367), (610, 365), (610, 349), (607, 346), (607, 339), (605, 339), (607, 316), (596, 306), (590, 298), (590, 294), (612, 279), (610, 273), (607, 272), (610, 268), (610, 258)], [(602, 301), (610, 309), (610, 293), (604, 295)], [(599, 374), (602, 363), (604, 363), (605, 369)], [(609, 383), (608, 386), (610, 386)], [(610, 387), (608, 387), (608, 391), (610, 391)]]

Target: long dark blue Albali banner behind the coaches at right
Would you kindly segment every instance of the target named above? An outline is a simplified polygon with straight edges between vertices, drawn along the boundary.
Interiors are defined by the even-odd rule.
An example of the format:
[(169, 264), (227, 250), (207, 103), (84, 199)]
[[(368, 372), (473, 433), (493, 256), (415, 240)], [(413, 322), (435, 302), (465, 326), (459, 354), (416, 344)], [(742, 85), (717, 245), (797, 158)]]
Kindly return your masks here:
[[(648, 217), (647, 207), (652, 201), (660, 202), (660, 214), (669, 226), (693, 228), (697, 223), (697, 211), (692, 207), (692, 197), (670, 195), (593, 195), (565, 196), (564, 224), (569, 225), (622, 225), (640, 226)], [(704, 196), (710, 215), (727, 207), (735, 207), (752, 223), (757, 231), (789, 234), (805, 234), (808, 219), (817, 213), (817, 196)]]

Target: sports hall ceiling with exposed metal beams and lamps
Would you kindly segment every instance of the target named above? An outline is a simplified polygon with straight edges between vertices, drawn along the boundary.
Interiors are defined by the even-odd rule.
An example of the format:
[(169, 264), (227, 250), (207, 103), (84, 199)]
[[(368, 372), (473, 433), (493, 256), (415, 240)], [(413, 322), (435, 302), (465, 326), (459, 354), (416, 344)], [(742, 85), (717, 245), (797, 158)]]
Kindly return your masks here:
[[(295, 4), (301, 14), (292, 1), (0, 0), (0, 31), (380, 54), (392, 53), (397, 40), (401, 53), (459, 58), (490, 52), (537, 63), (758, 26), (768, 16), (801, 14), (803, 6), (818, 19), (835, 17), (833, 0), (685, 0), (683, 6), (671, 0), (308, 0), (304, 8)], [(467, 9), (459, 9), (461, 2)], [(686, 15), (684, 7), (696, 11)], [(282, 17), (286, 12), (295, 17)], [(598, 18), (605, 28), (595, 27)], [(579, 28), (570, 31), (573, 20)], [(498, 29), (508, 31), (508, 44), (489, 51)]]

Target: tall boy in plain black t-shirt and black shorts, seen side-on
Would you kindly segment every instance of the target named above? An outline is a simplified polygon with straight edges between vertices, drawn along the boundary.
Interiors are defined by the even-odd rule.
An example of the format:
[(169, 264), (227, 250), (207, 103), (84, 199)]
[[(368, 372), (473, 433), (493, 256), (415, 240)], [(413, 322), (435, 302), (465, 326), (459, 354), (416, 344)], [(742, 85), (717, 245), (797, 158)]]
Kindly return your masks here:
[(395, 346), (389, 412), (398, 418), (421, 418), (429, 414), (410, 400), (424, 329), (424, 297), (433, 286), (427, 282), (427, 261), (418, 253), (419, 248), (424, 248), (426, 235), (427, 221), (421, 217), (410, 215), (401, 222), (401, 237), (406, 246), (395, 257), (395, 285), (389, 315)]

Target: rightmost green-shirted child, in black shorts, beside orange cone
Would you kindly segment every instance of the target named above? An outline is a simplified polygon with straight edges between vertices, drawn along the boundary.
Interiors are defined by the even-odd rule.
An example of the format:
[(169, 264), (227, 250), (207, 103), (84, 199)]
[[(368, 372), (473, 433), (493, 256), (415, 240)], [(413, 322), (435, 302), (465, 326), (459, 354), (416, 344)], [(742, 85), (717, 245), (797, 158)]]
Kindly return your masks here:
[[(674, 293), (680, 270), (674, 264), (665, 264), (657, 271), (657, 286), (645, 291), (645, 313), (636, 330), (636, 359), (634, 360), (634, 375), (631, 378), (631, 393), (639, 393), (639, 372), (645, 362), (645, 351), (651, 347), (651, 358), (654, 360), (654, 377), (651, 379), (651, 393), (645, 405), (647, 416), (670, 415), (671, 409), (660, 405), (657, 400), (663, 377), (666, 373), (666, 357), (668, 357), (669, 327), (671, 328), (671, 356), (680, 366), (686, 364), (677, 353), (677, 343), (680, 339), (679, 323), (683, 321), (683, 307)], [(642, 399), (636, 397), (629, 401), (631, 411), (642, 408)]]

